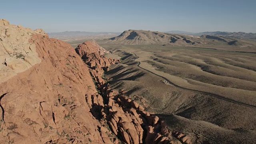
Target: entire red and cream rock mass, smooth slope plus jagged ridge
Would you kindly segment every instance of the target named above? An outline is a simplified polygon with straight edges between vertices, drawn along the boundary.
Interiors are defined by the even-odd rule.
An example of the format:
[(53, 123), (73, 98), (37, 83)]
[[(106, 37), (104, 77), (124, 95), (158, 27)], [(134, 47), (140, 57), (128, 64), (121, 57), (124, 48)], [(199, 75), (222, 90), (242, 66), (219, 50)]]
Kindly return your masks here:
[(104, 72), (119, 62), (94, 41), (75, 50), (0, 20), (0, 143), (190, 144), (161, 118), (108, 88)]

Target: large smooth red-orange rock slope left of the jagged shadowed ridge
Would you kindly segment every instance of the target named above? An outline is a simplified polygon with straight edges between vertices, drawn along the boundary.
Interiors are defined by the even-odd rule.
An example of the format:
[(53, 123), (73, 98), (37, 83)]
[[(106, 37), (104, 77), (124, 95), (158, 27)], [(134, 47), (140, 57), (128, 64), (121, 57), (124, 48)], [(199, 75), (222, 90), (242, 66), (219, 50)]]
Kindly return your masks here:
[[(4, 26), (0, 26), (1, 30), (6, 26), (10, 30), (8, 38), (12, 38), (12, 34), (22, 38), (23, 32), (31, 31), (8, 24), (4, 20)], [(18, 42), (8, 44), (22, 45)], [(106, 136), (102, 138), (97, 128), (101, 124), (86, 103), (85, 95), (95, 94), (97, 90), (74, 48), (48, 38), (41, 31), (31, 35), (28, 47), (33, 44), (40, 62), (0, 84), (0, 143), (109, 142)], [(18, 48), (23, 47), (17, 47), (17, 51)]]

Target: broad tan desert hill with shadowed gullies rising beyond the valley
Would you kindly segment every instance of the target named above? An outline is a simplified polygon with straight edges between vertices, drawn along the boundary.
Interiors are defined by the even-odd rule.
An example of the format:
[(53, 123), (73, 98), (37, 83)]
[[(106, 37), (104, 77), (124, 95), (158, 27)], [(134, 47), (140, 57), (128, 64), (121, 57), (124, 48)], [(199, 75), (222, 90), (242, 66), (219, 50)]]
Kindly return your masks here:
[(252, 46), (254, 44), (233, 38), (221, 36), (188, 36), (145, 30), (126, 30), (117, 37), (105, 40), (107, 44), (134, 44), (134, 45), (171, 45), (171, 46)]

